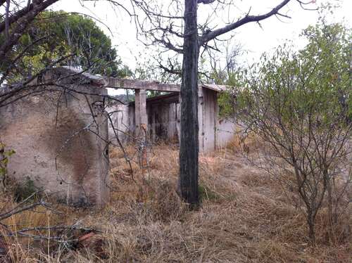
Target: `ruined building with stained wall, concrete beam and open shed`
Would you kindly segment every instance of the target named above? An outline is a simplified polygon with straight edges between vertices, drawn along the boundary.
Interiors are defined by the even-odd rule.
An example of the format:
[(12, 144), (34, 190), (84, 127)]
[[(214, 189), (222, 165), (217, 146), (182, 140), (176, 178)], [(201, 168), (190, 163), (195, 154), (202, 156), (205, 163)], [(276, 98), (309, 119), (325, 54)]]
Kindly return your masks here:
[[(179, 139), (179, 85), (97, 77), (65, 67), (47, 72), (32, 84), (36, 90), (42, 84), (45, 92), (19, 96), (0, 108), (0, 141), (16, 151), (8, 164), (8, 177), (19, 184), (30, 180), (61, 202), (80, 206), (108, 202), (108, 145), (115, 133), (128, 142), (144, 127), (152, 141)], [(134, 89), (135, 101), (106, 108), (107, 88)], [(203, 152), (223, 146), (232, 137), (233, 124), (218, 117), (222, 89), (199, 86)], [(167, 94), (147, 98), (147, 90)], [(113, 125), (108, 128), (109, 115)]]

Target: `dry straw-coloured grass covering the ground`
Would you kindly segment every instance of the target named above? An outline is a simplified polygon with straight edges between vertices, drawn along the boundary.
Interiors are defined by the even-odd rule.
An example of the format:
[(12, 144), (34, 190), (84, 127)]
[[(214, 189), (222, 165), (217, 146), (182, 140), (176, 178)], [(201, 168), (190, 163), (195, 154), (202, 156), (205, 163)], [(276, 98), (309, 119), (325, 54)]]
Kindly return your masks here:
[[(232, 148), (236, 146), (233, 145)], [(132, 154), (132, 146), (127, 148)], [(111, 202), (103, 210), (42, 210), (7, 219), (13, 227), (72, 224), (100, 229), (75, 248), (55, 241), (6, 238), (13, 262), (352, 262), (351, 235), (331, 244), (318, 215), (308, 243), (299, 207), (275, 181), (232, 150), (200, 158), (202, 207), (189, 212), (175, 193), (177, 148), (156, 146), (149, 172), (111, 150)], [(289, 198), (295, 198), (293, 194)], [(15, 205), (2, 197), (2, 207)], [(352, 222), (342, 234), (351, 232)], [(348, 229), (349, 228), (349, 229)], [(48, 234), (46, 232), (46, 234)], [(1, 243), (0, 243), (1, 248)]]

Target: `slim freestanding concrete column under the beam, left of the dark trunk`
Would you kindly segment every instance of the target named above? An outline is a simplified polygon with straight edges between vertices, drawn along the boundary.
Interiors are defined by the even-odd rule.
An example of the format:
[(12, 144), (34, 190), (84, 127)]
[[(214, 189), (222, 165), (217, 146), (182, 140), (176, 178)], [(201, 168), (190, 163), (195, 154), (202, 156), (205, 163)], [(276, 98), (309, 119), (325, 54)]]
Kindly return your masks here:
[(136, 136), (146, 135), (148, 116), (146, 115), (146, 90), (135, 90)]

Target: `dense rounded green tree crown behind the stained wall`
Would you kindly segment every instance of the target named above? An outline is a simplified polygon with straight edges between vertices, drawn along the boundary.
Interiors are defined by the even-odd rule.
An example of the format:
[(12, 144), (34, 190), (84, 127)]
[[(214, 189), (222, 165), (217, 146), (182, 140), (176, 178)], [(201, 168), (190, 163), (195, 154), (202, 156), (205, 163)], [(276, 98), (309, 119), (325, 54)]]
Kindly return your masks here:
[[(20, 59), (11, 65), (16, 56)], [(111, 39), (94, 20), (63, 11), (44, 11), (27, 29), (13, 49), (13, 56), (2, 65), (11, 68), (12, 79), (34, 75), (64, 56), (61, 65), (73, 65), (89, 72), (111, 77), (125, 77), (130, 70), (122, 66)]]

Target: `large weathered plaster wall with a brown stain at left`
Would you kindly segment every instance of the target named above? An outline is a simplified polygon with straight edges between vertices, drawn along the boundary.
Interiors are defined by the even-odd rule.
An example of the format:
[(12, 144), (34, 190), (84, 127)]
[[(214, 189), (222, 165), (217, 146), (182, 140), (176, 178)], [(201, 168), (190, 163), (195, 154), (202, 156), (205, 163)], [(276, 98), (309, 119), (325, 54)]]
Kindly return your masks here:
[[(95, 86), (75, 89), (106, 93)], [(108, 122), (98, 101), (100, 96), (46, 93), (1, 108), (1, 141), (16, 151), (9, 176), (19, 183), (29, 178), (72, 205), (106, 203)]]

